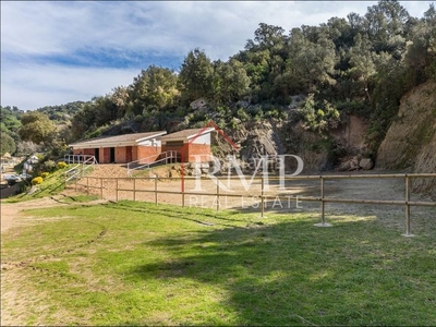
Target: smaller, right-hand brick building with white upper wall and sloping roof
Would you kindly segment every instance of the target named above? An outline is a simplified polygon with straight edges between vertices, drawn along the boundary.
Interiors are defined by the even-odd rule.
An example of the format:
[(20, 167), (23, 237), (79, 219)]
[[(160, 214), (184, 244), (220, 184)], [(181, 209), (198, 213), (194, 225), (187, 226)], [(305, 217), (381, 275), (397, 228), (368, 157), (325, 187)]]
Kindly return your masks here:
[(210, 133), (214, 128), (183, 130), (161, 136), (162, 153), (178, 152), (181, 161), (210, 161)]

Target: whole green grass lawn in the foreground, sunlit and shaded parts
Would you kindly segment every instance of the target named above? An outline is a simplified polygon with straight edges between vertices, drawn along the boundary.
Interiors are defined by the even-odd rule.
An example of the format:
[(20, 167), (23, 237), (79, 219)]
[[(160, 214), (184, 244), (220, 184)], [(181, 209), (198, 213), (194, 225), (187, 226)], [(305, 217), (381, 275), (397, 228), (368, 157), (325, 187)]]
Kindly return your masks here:
[(1, 249), (5, 290), (27, 299), (8, 308), (23, 324), (436, 324), (434, 219), (404, 238), (383, 215), (316, 228), (315, 213), (126, 201), (28, 215)]

